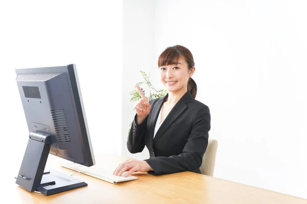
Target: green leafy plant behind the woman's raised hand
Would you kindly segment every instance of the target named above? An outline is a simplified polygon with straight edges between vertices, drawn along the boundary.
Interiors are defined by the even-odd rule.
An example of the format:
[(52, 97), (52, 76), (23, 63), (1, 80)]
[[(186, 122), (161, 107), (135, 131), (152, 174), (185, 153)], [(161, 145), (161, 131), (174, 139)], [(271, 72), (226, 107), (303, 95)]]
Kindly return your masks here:
[[(151, 82), (149, 81), (150, 73), (148, 73), (148, 75), (147, 75), (145, 73), (145, 71), (140, 71), (140, 72), (141, 72), (141, 75), (142, 75), (144, 81), (137, 83), (137, 85), (140, 86), (140, 88), (142, 89), (142, 91), (143, 91), (145, 96), (146, 96), (145, 90), (142, 88), (142, 85), (147, 85), (148, 86), (148, 88), (149, 88), (149, 96), (148, 97), (146, 96), (148, 101), (150, 101), (152, 99), (155, 99), (155, 98), (163, 97), (163, 96), (165, 96), (167, 94), (167, 90), (165, 90), (165, 89), (156, 90), (155, 87), (152, 86)], [(135, 86), (135, 89), (130, 92), (130, 96), (132, 96), (130, 101), (137, 101), (140, 98), (142, 98), (141, 95), (139, 94), (136, 86)], [(132, 122), (129, 124), (128, 133), (130, 131), (131, 124), (132, 124)]]

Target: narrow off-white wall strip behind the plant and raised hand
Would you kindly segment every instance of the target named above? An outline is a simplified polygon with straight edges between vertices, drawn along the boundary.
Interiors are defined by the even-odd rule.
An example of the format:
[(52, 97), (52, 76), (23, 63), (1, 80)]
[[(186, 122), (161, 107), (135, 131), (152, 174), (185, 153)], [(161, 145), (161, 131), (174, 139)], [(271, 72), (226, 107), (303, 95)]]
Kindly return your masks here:
[[(150, 72), (151, 75), (152, 70), (157, 67), (153, 60), (154, 3), (151, 0), (123, 1), (122, 155), (135, 159), (149, 158), (149, 152), (145, 148), (143, 152), (133, 155), (127, 150), (129, 124), (136, 114), (135, 102), (130, 101), (129, 93), (134, 90), (138, 82), (143, 81), (140, 70)], [(150, 79), (155, 78), (155, 75), (150, 77)], [(141, 87), (145, 89), (145, 95), (147, 95), (146, 91), (149, 89), (145, 86)]]

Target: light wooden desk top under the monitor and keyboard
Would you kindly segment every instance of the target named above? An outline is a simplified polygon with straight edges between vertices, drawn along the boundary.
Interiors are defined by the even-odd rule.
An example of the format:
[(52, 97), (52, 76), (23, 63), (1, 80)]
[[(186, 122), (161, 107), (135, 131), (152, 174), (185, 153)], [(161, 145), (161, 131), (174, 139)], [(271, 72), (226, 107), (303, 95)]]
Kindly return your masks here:
[[(115, 169), (126, 158), (107, 154), (95, 155), (96, 164)], [(63, 161), (52, 155), (47, 168), (57, 169), (67, 174), (75, 171), (60, 167)], [(30, 193), (15, 184), (16, 169), (7, 172), (6, 193), (2, 203), (301, 203), (307, 200), (269, 190), (233, 183), (192, 172), (180, 172), (153, 176), (147, 173), (134, 173), (139, 179), (125, 183), (111, 184), (81, 173), (73, 176), (86, 182), (87, 187), (45, 196)]]

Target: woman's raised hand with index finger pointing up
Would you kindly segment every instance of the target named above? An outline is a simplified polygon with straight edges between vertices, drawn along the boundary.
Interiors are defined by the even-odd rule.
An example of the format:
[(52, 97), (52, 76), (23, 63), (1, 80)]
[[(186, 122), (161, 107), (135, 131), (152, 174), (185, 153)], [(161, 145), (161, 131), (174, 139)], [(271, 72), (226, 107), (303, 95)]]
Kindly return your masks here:
[(137, 124), (140, 124), (143, 122), (143, 120), (147, 117), (147, 115), (149, 114), (149, 111), (150, 111), (150, 104), (146, 98), (146, 96), (143, 94), (143, 91), (142, 89), (136, 85), (138, 91), (139, 91), (139, 94), (141, 95), (141, 99), (139, 99), (137, 101), (137, 103), (134, 105), (135, 107), (135, 110), (138, 114), (138, 121), (137, 121)]

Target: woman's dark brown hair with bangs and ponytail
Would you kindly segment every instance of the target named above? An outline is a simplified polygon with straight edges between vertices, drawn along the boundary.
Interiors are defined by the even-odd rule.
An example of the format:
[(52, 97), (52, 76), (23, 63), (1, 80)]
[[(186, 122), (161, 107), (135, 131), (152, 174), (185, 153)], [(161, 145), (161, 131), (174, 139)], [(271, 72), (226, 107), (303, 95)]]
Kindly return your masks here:
[[(170, 64), (177, 64), (180, 57), (183, 57), (185, 59), (189, 69), (193, 68), (194, 59), (192, 53), (188, 48), (181, 45), (167, 47), (159, 57), (158, 67)], [(189, 79), (187, 88), (188, 91), (191, 92), (193, 98), (195, 98), (197, 93), (197, 85), (192, 78)]]

